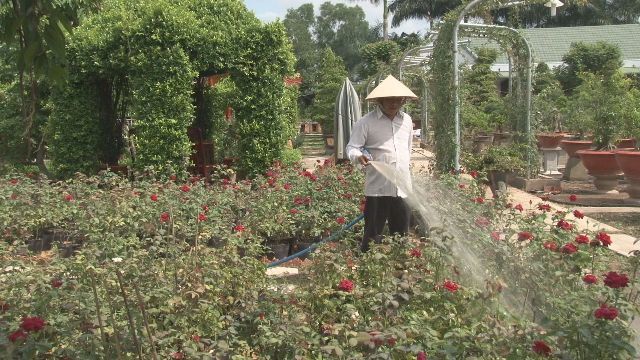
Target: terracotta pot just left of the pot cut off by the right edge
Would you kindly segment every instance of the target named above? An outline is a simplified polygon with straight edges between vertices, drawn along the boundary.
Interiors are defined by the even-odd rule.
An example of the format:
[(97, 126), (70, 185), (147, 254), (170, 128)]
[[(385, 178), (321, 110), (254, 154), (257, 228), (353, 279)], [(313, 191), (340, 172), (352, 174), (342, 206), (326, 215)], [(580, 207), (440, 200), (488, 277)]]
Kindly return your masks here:
[(615, 152), (578, 150), (576, 153), (580, 156), (589, 175), (595, 178), (593, 185), (596, 189), (601, 192), (615, 192), (618, 176), (622, 175)]

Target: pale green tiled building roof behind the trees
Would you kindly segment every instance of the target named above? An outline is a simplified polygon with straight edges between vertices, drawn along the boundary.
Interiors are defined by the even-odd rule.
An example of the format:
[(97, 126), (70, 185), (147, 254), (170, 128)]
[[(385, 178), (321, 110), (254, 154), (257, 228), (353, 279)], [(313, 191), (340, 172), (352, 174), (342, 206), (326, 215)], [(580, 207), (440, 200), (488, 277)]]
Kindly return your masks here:
[[(531, 45), (534, 63), (545, 62), (550, 67), (555, 67), (562, 63), (562, 56), (569, 51), (572, 43), (606, 41), (620, 48), (624, 72), (640, 72), (640, 24), (531, 28), (519, 31)], [(470, 38), (469, 41), (471, 49), (497, 47), (495, 41), (487, 38)], [(496, 70), (505, 71), (505, 64), (508, 64), (508, 60), (505, 54), (501, 54), (496, 61), (500, 69)]]

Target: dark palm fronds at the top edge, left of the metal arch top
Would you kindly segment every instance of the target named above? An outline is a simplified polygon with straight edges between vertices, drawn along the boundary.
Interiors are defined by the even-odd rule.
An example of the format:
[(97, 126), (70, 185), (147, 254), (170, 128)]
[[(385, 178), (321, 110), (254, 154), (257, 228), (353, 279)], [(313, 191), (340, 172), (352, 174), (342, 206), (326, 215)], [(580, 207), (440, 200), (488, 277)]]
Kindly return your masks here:
[(410, 19), (424, 19), (433, 29), (435, 20), (461, 3), (461, 0), (393, 0), (389, 4), (389, 10), (393, 13), (391, 25), (398, 26)]

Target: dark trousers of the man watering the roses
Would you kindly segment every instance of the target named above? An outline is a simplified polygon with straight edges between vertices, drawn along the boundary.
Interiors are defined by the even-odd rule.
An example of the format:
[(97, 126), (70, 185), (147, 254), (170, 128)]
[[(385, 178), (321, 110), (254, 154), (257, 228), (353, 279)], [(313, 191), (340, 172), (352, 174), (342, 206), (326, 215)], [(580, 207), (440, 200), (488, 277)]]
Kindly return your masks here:
[(364, 236), (360, 249), (369, 250), (369, 243), (382, 240), (382, 230), (389, 222), (391, 235), (404, 236), (409, 231), (410, 210), (401, 197), (395, 196), (367, 196), (364, 206)]

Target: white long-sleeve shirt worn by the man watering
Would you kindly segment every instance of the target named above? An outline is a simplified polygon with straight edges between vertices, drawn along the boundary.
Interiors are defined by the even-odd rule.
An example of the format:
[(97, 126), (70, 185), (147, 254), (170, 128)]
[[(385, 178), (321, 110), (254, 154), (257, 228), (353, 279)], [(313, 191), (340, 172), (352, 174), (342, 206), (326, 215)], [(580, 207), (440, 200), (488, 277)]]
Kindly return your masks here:
[[(365, 148), (371, 153), (374, 161), (380, 161), (395, 168), (407, 181), (410, 181), (412, 131), (411, 116), (399, 111), (391, 120), (377, 107), (353, 126), (351, 138), (347, 144), (347, 156), (351, 162), (357, 164), (358, 158), (362, 156), (362, 148)], [(367, 166), (365, 171), (365, 196), (407, 197), (392, 181), (387, 180), (372, 166)], [(410, 183), (408, 185), (410, 186)]]

